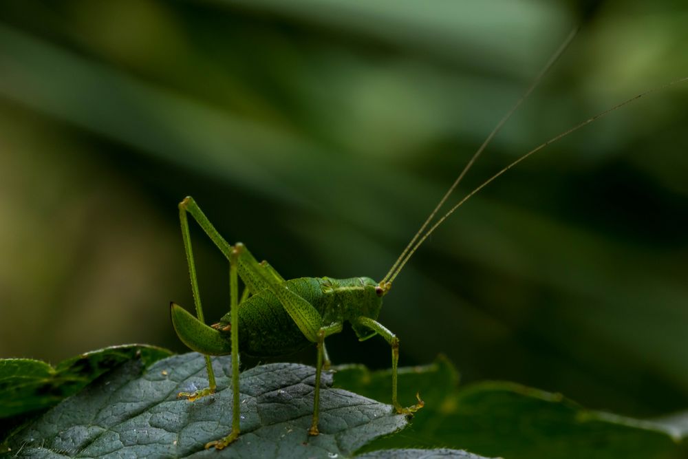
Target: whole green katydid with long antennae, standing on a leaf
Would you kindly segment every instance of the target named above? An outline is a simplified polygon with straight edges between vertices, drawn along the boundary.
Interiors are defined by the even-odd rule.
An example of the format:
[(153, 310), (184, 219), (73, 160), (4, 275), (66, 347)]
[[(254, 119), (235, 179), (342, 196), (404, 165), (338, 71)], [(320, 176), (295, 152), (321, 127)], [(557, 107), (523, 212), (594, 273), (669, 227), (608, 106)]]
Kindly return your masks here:
[[(392, 396), (391, 402), (399, 414), (413, 414), (422, 408), (423, 402), (416, 394), (418, 403), (410, 407), (402, 407), (397, 398), (397, 365), (399, 356), (399, 339), (396, 335), (378, 323), (377, 318), (382, 306), (382, 298), (391, 289), (392, 282), (396, 279), (407, 261), (420, 245), (444, 222), (458, 207), (462, 206), (475, 193), (482, 190), (497, 177), (514, 167), (522, 160), (533, 155), (537, 151), (550, 145), (552, 142), (571, 134), (573, 131), (590, 124), (594, 120), (619, 109), (623, 105), (641, 98), (657, 89), (663, 89), (675, 85), (688, 78), (680, 78), (676, 81), (652, 89), (643, 94), (625, 100), (608, 110), (588, 118), (578, 125), (542, 143), (535, 149), (528, 151), (508, 164), (501, 171), (484, 181), (476, 189), (468, 193), (462, 200), (451, 207), (429, 228), (429, 224), (440, 211), (454, 191), (466, 172), (471, 168), (478, 156), (484, 151), (488, 143), (502, 128), (506, 120), (535, 89), (541, 78), (557, 61), (576, 31), (569, 34), (564, 43), (552, 55), (548, 63), (537, 75), (533, 83), (528, 87), (524, 95), (511, 107), (507, 114), (497, 123), (491, 134), (486, 138), (473, 157), (458, 175), (458, 178), (449, 187), (447, 193), (438, 202), (427, 220), (422, 224), (416, 235), (411, 239), (405, 250), (402, 251), (385, 277), (377, 282), (369, 277), (353, 277), (350, 279), (331, 279), (329, 277), (301, 277), (299, 279), (285, 280), (266, 261), (257, 261), (248, 249), (241, 243), (230, 245), (213, 227), (210, 220), (204, 215), (200, 207), (191, 197), (187, 197), (179, 204), (182, 237), (186, 250), (186, 259), (189, 264), (189, 277), (197, 317), (184, 310), (182, 307), (171, 304), (171, 317), (178, 336), (192, 350), (206, 355), (206, 367), (208, 372), (209, 387), (195, 392), (180, 393), (180, 396), (189, 398), (190, 401), (215, 392), (215, 376), (211, 365), (211, 355), (231, 354), (233, 390), (233, 420), (232, 431), (219, 440), (209, 442), (208, 447), (222, 449), (236, 440), (240, 434), (239, 416), (239, 350), (253, 356), (279, 356), (288, 354), (308, 345), (316, 345), (316, 377), (313, 402), (313, 416), (308, 434), (319, 433), (319, 391), (321, 372), (323, 367), (330, 366), (330, 359), (325, 349), (325, 338), (331, 334), (341, 332), (345, 322), (349, 322), (356, 332), (358, 339), (363, 341), (379, 334), (391, 346), (391, 377)], [(230, 265), (230, 312), (225, 314), (218, 323), (208, 326), (204, 323), (201, 308), (200, 295), (197, 285), (193, 250), (189, 235), (189, 223), (187, 214), (201, 226), (206, 235), (211, 238), (215, 246), (228, 259)], [(426, 230), (427, 228), (427, 230)], [(238, 278), (244, 281), (246, 288), (239, 298)], [(239, 332), (241, 330), (241, 332)]]

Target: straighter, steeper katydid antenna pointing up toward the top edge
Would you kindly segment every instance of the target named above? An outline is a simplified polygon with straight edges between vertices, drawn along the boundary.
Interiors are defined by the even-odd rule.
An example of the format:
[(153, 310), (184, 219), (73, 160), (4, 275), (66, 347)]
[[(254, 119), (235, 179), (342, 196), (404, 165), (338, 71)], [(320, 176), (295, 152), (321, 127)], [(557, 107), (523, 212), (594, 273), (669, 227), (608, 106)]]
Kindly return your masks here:
[(400, 263), (400, 261), (401, 261), (402, 259), (404, 259), (404, 257), (406, 256), (406, 254), (408, 253), (408, 251), (411, 250), (411, 247), (412, 247), (413, 244), (416, 242), (416, 240), (418, 239), (418, 237), (420, 237), (420, 235), (422, 234), (422, 232), (424, 231), (424, 229), (425, 229), (425, 228), (428, 226), (428, 224), (433, 220), (433, 218), (435, 217), (435, 215), (437, 215), (438, 211), (440, 211), (440, 209), (441, 209), (442, 206), (444, 205), (444, 202), (447, 201), (447, 198), (449, 198), (449, 195), (451, 195), (451, 193), (453, 193), (454, 189), (456, 189), (456, 186), (458, 186), (458, 184), (459, 184), (459, 183), (461, 182), (461, 180), (464, 178), (464, 175), (466, 175), (466, 172), (468, 172), (469, 169), (471, 169), (471, 167), (473, 166), (473, 163), (475, 162), (475, 160), (477, 160), (478, 156), (480, 156), (480, 154), (481, 154), (481, 153), (484, 151), (484, 149), (490, 144), (490, 142), (492, 141), (492, 139), (499, 133), (499, 131), (502, 130), (502, 127), (504, 126), (504, 124), (506, 123), (506, 121), (507, 121), (509, 118), (511, 118), (511, 116), (512, 116), (512, 115), (514, 114), (514, 112), (518, 109), (518, 107), (520, 107), (521, 104), (524, 103), (524, 100), (526, 100), (526, 98), (528, 98), (528, 96), (530, 96), (530, 93), (533, 92), (533, 90), (537, 87), (537, 85), (539, 85), (540, 81), (541, 81), (542, 78), (545, 76), (545, 74), (550, 70), (550, 68), (552, 68), (552, 65), (554, 65), (554, 64), (557, 62), (557, 60), (559, 59), (559, 56), (561, 56), (561, 54), (563, 54), (563, 52), (566, 50), (566, 48), (568, 47), (568, 45), (569, 45), (569, 44), (571, 43), (571, 41), (574, 39), (574, 36), (576, 36), (576, 34), (578, 33), (578, 30), (579, 30), (579, 28), (574, 28), (574, 30), (572, 30), (572, 31), (570, 32), (570, 34), (568, 34), (568, 36), (567, 36), (566, 39), (563, 41), (563, 43), (561, 43), (561, 45), (559, 46), (559, 48), (557, 49), (557, 51), (555, 51), (554, 54), (552, 54), (552, 56), (550, 57), (549, 61), (547, 61), (547, 63), (544, 65), (544, 67), (542, 67), (542, 70), (540, 70), (540, 73), (537, 74), (537, 76), (536, 76), (535, 79), (533, 80), (533, 83), (530, 83), (530, 86), (528, 87), (528, 89), (526, 89), (526, 92), (524, 92), (524, 94), (519, 98), (519, 100), (517, 100), (517, 102), (513, 105), (513, 107), (511, 107), (511, 108), (509, 109), (509, 111), (506, 112), (506, 114), (502, 117), (502, 119), (499, 120), (499, 122), (497, 123), (497, 125), (495, 126), (495, 128), (492, 130), (492, 132), (490, 133), (490, 135), (487, 136), (487, 138), (484, 140), (484, 142), (482, 142), (482, 145), (480, 145), (480, 148), (478, 148), (478, 149), (475, 151), (475, 153), (473, 153), (473, 157), (472, 157), (471, 160), (469, 160), (469, 162), (466, 164), (466, 166), (465, 166), (464, 169), (461, 171), (461, 173), (460, 173), (459, 176), (456, 178), (456, 180), (454, 180), (453, 184), (451, 184), (451, 186), (449, 186), (449, 189), (447, 190), (447, 193), (444, 193), (444, 196), (442, 197), (442, 199), (440, 200), (440, 202), (438, 202), (438, 204), (437, 204), (437, 206), (435, 207), (435, 209), (433, 209), (433, 211), (430, 213), (430, 215), (427, 217), (427, 219), (425, 219), (425, 222), (422, 224), (422, 226), (420, 226), (420, 228), (419, 228), (418, 231), (416, 232), (416, 235), (414, 235), (414, 236), (413, 236), (413, 239), (411, 239), (411, 242), (409, 242), (409, 244), (407, 244), (407, 246), (406, 246), (406, 248), (404, 249), (404, 251), (401, 253), (401, 255), (399, 255), (399, 257), (398, 257), (398, 258), (396, 259), (396, 261), (394, 262), (394, 265), (392, 265), (391, 268), (389, 268), (389, 271), (387, 272), (387, 274), (385, 275), (385, 277), (383, 278), (383, 280), (380, 281), (380, 285), (384, 286), (385, 284), (387, 284), (387, 279), (389, 279), (389, 277), (392, 275), (392, 273), (394, 273), (394, 270), (396, 270), (396, 268), (397, 268), (398, 264)]

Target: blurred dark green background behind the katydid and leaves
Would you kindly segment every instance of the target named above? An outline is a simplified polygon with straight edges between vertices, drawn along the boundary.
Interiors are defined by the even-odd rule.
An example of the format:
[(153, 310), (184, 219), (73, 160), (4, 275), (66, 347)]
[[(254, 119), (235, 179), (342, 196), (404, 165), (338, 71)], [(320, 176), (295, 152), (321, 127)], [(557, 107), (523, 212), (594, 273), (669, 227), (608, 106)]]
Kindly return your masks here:
[[(682, 1), (3, 0), (0, 356), (183, 351), (184, 195), (284, 277), (380, 279), (575, 24), (454, 202), (688, 76), (686, 23)], [(402, 365), (443, 352), (464, 382), (688, 407), (687, 125), (688, 85), (664, 89), (466, 204), (385, 297)], [(213, 321), (228, 270), (196, 230)], [(328, 346), (389, 365), (381, 339)]]

